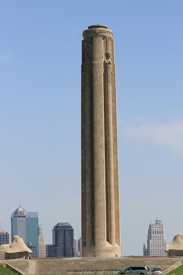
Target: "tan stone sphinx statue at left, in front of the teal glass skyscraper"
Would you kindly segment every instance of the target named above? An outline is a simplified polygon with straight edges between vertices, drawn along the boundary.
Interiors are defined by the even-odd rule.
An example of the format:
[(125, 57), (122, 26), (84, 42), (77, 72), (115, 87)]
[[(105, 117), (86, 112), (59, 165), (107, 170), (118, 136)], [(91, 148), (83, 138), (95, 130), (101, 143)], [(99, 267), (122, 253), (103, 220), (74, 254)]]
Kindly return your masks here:
[(0, 245), (0, 259), (20, 259), (26, 256), (27, 259), (33, 252), (27, 247), (23, 239), (19, 236), (14, 236), (11, 244)]

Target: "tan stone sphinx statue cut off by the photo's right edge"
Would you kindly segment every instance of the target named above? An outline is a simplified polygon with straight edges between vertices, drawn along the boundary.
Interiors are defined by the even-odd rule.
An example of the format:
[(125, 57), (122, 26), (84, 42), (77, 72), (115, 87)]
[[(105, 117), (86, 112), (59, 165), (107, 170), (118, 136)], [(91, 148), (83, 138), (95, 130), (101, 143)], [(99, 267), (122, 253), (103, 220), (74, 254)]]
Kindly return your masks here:
[(183, 257), (183, 233), (178, 233), (165, 249), (168, 256)]

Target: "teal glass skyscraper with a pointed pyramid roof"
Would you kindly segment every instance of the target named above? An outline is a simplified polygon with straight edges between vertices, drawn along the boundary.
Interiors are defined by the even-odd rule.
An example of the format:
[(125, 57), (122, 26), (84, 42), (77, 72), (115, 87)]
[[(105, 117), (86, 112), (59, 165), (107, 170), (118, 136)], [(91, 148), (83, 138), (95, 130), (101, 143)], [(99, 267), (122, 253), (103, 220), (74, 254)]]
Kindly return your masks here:
[(38, 212), (27, 212), (20, 205), (11, 213), (11, 240), (16, 235), (33, 251), (30, 257), (38, 257)]

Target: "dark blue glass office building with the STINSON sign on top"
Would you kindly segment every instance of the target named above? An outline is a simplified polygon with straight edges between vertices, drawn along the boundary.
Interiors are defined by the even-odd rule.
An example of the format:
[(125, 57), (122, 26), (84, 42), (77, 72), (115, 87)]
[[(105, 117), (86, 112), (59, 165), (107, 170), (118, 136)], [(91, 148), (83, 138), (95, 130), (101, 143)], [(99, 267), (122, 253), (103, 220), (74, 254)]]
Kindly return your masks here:
[(59, 222), (53, 227), (53, 245), (56, 257), (74, 257), (74, 229), (68, 222)]

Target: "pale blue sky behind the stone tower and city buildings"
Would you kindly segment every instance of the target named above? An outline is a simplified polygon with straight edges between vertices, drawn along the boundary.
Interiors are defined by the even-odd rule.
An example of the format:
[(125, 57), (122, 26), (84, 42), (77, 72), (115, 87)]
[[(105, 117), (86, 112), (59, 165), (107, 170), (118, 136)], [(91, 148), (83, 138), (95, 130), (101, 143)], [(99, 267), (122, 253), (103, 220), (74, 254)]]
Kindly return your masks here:
[(183, 2), (0, 5), (4, 229), (21, 203), (38, 211), (46, 244), (58, 222), (81, 237), (81, 40), (104, 24), (115, 42), (123, 255), (142, 255), (156, 215), (170, 242), (183, 232)]

